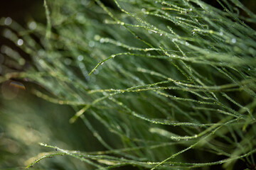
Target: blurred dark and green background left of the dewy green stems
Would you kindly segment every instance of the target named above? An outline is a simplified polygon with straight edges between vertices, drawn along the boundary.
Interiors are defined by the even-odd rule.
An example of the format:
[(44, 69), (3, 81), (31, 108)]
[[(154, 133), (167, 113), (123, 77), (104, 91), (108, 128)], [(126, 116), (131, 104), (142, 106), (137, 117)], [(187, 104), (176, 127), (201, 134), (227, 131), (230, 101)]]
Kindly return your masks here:
[[(25, 28), (29, 21), (46, 23), (42, 0), (1, 1), (1, 17), (10, 17)], [(1, 35), (3, 30), (4, 27), (1, 27)], [(8, 45), (29, 60), (29, 57), (13, 42), (0, 36), (0, 47), (2, 45)], [(6, 69), (8, 64), (5, 57), (1, 52), (0, 75), (9, 72)], [(24, 68), (11, 69), (21, 71)], [(0, 84), (0, 169), (24, 169), (38, 153), (50, 151), (39, 146), (38, 142), (58, 145), (65, 149), (86, 151), (104, 149), (82, 121), (78, 120), (74, 124), (68, 122), (74, 114), (72, 108), (44, 101), (31, 94), (31, 86), (41, 88), (38, 84), (18, 81), (22, 85), (15, 86), (14, 82), (17, 81)], [(43, 160), (34, 169), (85, 169), (86, 167), (90, 169), (78, 159), (63, 156), (51, 158), (50, 161)]]

